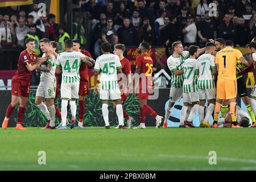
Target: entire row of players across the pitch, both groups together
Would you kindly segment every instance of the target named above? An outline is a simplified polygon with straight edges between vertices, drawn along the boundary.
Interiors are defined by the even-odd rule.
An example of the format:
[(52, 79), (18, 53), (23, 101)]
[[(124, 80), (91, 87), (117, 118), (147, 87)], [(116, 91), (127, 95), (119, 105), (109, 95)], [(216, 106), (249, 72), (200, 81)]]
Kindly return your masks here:
[[(44, 53), (40, 58), (34, 52), (34, 39), (28, 38), (25, 43), (27, 48), (20, 53), (18, 69), (12, 79), (11, 104), (7, 107), (6, 117), (2, 124), (3, 129), (7, 128), (10, 115), (19, 103), (18, 121), (15, 129), (26, 130), (22, 126), (22, 121), (30, 93), (32, 71), (34, 70), (42, 72), (40, 84), (36, 91), (35, 104), (48, 119), (44, 129), (66, 129), (68, 123), (68, 102), (72, 114), (71, 128), (75, 127), (76, 99), (79, 99), (78, 128), (83, 129), (85, 96), (89, 93), (88, 66), (94, 66), (95, 83), (97, 83), (98, 75), (101, 73), (100, 99), (102, 100), (102, 115), (106, 129), (109, 129), (109, 100), (113, 100), (114, 109), (117, 113), (118, 126), (116, 128), (131, 128), (133, 118), (122, 107), (122, 102), (126, 100), (127, 94), (129, 94), (129, 88), (124, 89), (125, 92), (121, 94), (117, 78), (117, 73), (125, 73), (127, 77), (130, 77), (131, 74), (130, 61), (123, 57), (123, 52), (125, 51), (123, 44), (115, 45), (114, 54), (110, 53), (112, 47), (109, 43), (102, 44), (101, 50), (103, 55), (94, 61), (88, 51), (80, 49), (80, 42), (77, 39), (67, 40), (65, 42), (65, 52), (59, 55), (56, 53), (59, 47), (56, 42), (49, 42), (48, 39), (40, 40), (40, 48)], [(146, 42), (139, 45), (138, 52), (140, 55), (136, 59), (137, 67), (135, 74), (144, 74), (147, 79), (152, 81), (153, 61), (147, 53), (149, 48), (150, 45)], [(226, 42), (221, 38), (215, 41), (210, 40), (205, 48), (199, 49), (197, 46), (190, 46), (188, 51), (184, 51), (180, 42), (173, 43), (172, 49), (174, 53), (167, 59), (167, 65), (172, 72), (172, 78), (170, 103), (167, 107), (165, 118), (156, 114), (147, 105), (150, 93), (147, 90), (146, 93), (142, 92), (142, 81), (139, 81), (135, 85), (138, 87), (141, 124), (135, 127), (135, 129), (146, 128), (146, 114), (155, 117), (156, 128), (160, 127), (163, 120), (163, 127), (167, 127), (171, 108), (181, 97), (183, 97), (184, 106), (180, 114), (180, 127), (195, 127), (192, 119), (197, 111), (199, 112), (200, 127), (210, 127), (209, 118), (213, 111), (214, 122), (212, 127), (249, 126), (250, 122), (252, 126), (255, 126), (255, 86), (253, 87), (250, 98), (248, 98), (245, 81), (241, 76), (254, 68), (256, 43), (252, 41), (249, 44), (249, 48), (252, 53), (252, 56), (250, 56), (250, 65), (243, 58), (240, 51), (233, 49), (233, 43), (229, 40)], [(218, 52), (216, 53), (216, 51)], [(198, 57), (202, 53), (204, 54)], [(245, 69), (241, 70), (241, 68)], [(60, 113), (60, 110), (54, 105), (54, 101), (60, 90), (57, 74), (61, 73), (61, 71)], [(152, 89), (151, 86), (147, 85), (147, 89)], [(245, 103), (250, 116), (240, 107), (236, 106), (237, 91)], [(99, 92), (97, 86), (94, 87), (94, 92)], [(206, 111), (204, 111), (206, 100), (208, 100), (208, 106)], [(220, 111), (221, 118), (218, 118)], [(57, 127), (55, 127), (55, 115), (61, 119), (61, 124)], [(128, 127), (124, 125), (123, 117), (126, 118)]]

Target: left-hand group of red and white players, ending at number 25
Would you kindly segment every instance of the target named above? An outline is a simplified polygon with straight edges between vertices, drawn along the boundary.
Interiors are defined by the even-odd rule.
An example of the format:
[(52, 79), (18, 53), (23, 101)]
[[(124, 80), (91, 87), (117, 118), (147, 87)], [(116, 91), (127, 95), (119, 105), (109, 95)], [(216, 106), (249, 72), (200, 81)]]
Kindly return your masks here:
[[(83, 129), (82, 122), (85, 114), (85, 96), (89, 93), (89, 76), (88, 67), (94, 66), (94, 82), (97, 83), (98, 75), (101, 73), (101, 89), (94, 86), (94, 92), (100, 91), (100, 99), (102, 100), (102, 114), (105, 121), (105, 128), (109, 129), (108, 121), (108, 101), (113, 100), (113, 105), (117, 113), (119, 125), (117, 129), (131, 128), (133, 118), (130, 117), (125, 109), (122, 108), (122, 102), (126, 100), (129, 89), (125, 89), (125, 93), (120, 92), (118, 86), (117, 73), (124, 73), (129, 77), (131, 74), (130, 61), (123, 57), (125, 46), (117, 44), (114, 47), (109, 43), (103, 43), (101, 50), (103, 55), (94, 61), (88, 51), (80, 49), (80, 42), (77, 39), (68, 39), (65, 41), (65, 52), (56, 53), (59, 48), (56, 42), (50, 42), (48, 39), (40, 40), (40, 49), (43, 52), (42, 57), (38, 57), (34, 52), (35, 40), (28, 38), (25, 41), (26, 50), (20, 53), (18, 61), (18, 69), (12, 78), (11, 84), (11, 103), (7, 107), (6, 116), (2, 123), (2, 129), (7, 129), (9, 118), (15, 107), (19, 104), (18, 121), (16, 130), (26, 130), (22, 126), (25, 108), (30, 94), (30, 81), (32, 71), (42, 72), (40, 76), (40, 84), (36, 90), (35, 104), (47, 117), (47, 125), (44, 129), (67, 129), (67, 113), (68, 102), (71, 109), (71, 129), (75, 127), (76, 122), (76, 99), (79, 99), (79, 123), (78, 128)], [(140, 56), (137, 57), (136, 73), (146, 74), (152, 79), (153, 61), (147, 54), (150, 45), (143, 42), (139, 46)], [(62, 72), (61, 89), (57, 74)], [(152, 80), (151, 80), (152, 82)], [(61, 112), (54, 105), (57, 95), (61, 92)], [(156, 118), (156, 125), (159, 127), (163, 121), (155, 111), (147, 105), (149, 93), (141, 92), (141, 82), (138, 83), (138, 99), (140, 107), (141, 125), (135, 129), (145, 128), (146, 114), (150, 114)], [(44, 101), (44, 102), (43, 102)], [(55, 127), (55, 115), (61, 119), (59, 126)], [(126, 118), (127, 126), (124, 125), (123, 117)]]

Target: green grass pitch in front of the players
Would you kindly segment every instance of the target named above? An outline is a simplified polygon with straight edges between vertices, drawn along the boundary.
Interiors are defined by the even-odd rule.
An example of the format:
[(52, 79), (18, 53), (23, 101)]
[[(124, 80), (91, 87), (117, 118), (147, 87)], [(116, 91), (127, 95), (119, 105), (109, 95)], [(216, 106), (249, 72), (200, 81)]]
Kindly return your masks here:
[(255, 137), (253, 128), (0, 129), (0, 170), (256, 170)]

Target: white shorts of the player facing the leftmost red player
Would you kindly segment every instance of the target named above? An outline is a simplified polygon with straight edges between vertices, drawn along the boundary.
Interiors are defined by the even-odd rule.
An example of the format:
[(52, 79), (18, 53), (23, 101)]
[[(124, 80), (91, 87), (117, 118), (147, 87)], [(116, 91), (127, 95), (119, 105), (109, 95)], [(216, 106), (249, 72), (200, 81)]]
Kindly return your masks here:
[(40, 81), (36, 96), (43, 98), (55, 98), (56, 95), (56, 82)]

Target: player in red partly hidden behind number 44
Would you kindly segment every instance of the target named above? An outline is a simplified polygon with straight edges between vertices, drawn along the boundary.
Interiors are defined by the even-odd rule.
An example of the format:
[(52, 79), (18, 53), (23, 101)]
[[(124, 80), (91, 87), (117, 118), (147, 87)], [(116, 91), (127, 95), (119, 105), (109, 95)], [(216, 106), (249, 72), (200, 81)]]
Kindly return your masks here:
[[(91, 57), (90, 52), (80, 49), (80, 40), (73, 39), (73, 51), (81, 52), (85, 56)], [(82, 129), (82, 121), (84, 121), (85, 114), (85, 96), (89, 95), (89, 75), (88, 67), (92, 67), (95, 61), (86, 61), (86, 63), (81, 63), (79, 73), (80, 73), (80, 86), (79, 86), (79, 129)], [(71, 127), (75, 126), (75, 123), (71, 123)]]

